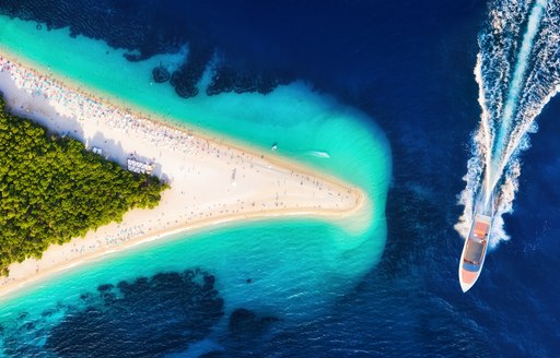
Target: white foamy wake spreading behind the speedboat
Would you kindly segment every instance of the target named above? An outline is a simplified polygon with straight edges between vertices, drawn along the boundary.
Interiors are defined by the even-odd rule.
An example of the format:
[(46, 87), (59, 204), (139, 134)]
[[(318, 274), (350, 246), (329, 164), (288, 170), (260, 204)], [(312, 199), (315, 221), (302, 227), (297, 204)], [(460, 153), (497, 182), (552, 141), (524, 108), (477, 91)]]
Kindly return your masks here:
[(537, 130), (535, 118), (560, 91), (560, 0), (497, 0), (489, 10), (475, 67), (482, 114), (455, 229), (466, 238), (476, 203), (480, 199), (488, 206), (493, 193), (490, 246), (495, 247), (509, 239), (502, 215), (512, 212), (520, 154)]

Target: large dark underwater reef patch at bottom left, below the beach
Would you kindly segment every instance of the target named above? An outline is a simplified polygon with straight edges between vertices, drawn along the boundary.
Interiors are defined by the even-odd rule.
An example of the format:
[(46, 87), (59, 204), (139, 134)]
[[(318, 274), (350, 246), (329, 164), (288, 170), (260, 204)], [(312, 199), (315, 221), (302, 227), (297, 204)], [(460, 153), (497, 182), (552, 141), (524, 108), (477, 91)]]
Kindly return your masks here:
[[(60, 322), (42, 333), (47, 339), (40, 349), (59, 357), (163, 357), (184, 351), (205, 339), (223, 315), (215, 282), (208, 272), (188, 270), (101, 285), (95, 300), (68, 308)], [(18, 356), (23, 353), (18, 347), (24, 347), (34, 331), (24, 326), (21, 335), (10, 337)]]

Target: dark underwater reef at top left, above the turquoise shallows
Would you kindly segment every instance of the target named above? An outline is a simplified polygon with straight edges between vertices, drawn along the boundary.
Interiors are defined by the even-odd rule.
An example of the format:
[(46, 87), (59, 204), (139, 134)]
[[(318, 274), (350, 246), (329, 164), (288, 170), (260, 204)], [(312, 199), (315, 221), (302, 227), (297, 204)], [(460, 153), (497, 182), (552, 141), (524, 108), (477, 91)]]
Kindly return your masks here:
[[(208, 95), (223, 92), (271, 92), (278, 84), (291, 82), (278, 73), (260, 73), (244, 63), (229, 61), (217, 48), (212, 34), (189, 16), (178, 0), (4, 0), (0, 14), (37, 22), (37, 28), (69, 26), (70, 35), (105, 40), (113, 48), (128, 52), (129, 61), (141, 61), (158, 53), (171, 53), (188, 44), (188, 57), (178, 69), (162, 67), (153, 71), (153, 81), (167, 82), (178, 96), (194, 97), (202, 74), (209, 65), (214, 74)], [(220, 52), (220, 60), (211, 62)], [(163, 71), (162, 71), (163, 70)], [(167, 72), (167, 73), (166, 73)]]

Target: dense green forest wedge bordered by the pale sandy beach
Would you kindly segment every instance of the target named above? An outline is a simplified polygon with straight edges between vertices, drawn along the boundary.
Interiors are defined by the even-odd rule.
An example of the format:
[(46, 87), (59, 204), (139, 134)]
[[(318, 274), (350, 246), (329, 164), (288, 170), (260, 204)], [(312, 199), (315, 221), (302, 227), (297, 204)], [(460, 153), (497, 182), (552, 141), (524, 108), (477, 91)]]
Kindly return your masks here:
[(10, 115), (0, 96), (0, 274), (133, 207), (155, 207), (166, 188)]

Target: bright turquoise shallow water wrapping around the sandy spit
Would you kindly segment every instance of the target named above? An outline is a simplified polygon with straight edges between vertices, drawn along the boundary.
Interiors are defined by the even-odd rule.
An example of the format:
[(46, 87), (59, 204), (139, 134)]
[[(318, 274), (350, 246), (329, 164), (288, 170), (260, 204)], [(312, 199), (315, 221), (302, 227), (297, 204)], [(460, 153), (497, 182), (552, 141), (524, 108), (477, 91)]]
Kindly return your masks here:
[(188, 56), (186, 46), (179, 53), (129, 62), (124, 51), (103, 41), (72, 38), (68, 29), (37, 29), (34, 22), (4, 16), (0, 17), (0, 44), (59, 76), (160, 114), (174, 123), (209, 131), (218, 139), (232, 138), (267, 155), (278, 143), (279, 155), (361, 187), (373, 206), (371, 225), (355, 235), (312, 219), (273, 220), (210, 228), (143, 244), (4, 298), (0, 321), (10, 321), (21, 311), (33, 317), (57, 302), (70, 305), (100, 284), (188, 267), (203, 267), (217, 276), (226, 312), (249, 306), (282, 319), (300, 320), (328, 307), (380, 260), (386, 237), (390, 150), (381, 130), (360, 111), (301, 82), (268, 95), (201, 94), (183, 99), (171, 86), (151, 83), (151, 70), (158, 63), (178, 63)]

